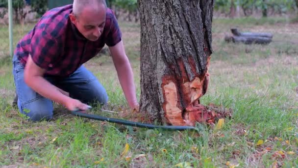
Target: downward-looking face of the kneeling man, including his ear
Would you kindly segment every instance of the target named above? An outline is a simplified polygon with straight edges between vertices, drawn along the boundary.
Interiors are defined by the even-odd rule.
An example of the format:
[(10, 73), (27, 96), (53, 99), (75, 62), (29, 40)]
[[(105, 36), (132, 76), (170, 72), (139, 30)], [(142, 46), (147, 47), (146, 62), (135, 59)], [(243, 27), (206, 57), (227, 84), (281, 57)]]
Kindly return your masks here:
[(105, 25), (106, 8), (100, 5), (99, 10), (85, 7), (79, 16), (70, 15), (78, 31), (90, 41), (96, 41), (102, 34)]

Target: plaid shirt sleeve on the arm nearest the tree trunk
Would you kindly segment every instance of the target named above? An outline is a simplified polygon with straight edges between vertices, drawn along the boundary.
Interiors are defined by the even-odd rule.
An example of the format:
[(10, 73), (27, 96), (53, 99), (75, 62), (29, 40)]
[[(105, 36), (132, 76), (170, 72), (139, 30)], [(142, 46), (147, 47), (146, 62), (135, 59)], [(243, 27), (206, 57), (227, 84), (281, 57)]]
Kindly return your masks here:
[(111, 29), (107, 35), (107, 38), (105, 40), (105, 44), (109, 47), (115, 46), (122, 40), (122, 32), (119, 28), (117, 19), (114, 14), (111, 14)]

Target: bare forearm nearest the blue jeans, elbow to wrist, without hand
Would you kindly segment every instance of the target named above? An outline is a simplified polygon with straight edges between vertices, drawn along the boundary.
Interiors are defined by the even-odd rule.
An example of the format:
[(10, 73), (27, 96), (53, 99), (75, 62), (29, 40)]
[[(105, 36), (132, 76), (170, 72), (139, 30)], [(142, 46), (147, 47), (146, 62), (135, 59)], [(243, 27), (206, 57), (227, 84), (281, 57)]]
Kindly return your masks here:
[(25, 83), (43, 97), (46, 97), (56, 103), (65, 105), (69, 99), (68, 96), (59, 91), (58, 87), (50, 84), (50, 82), (41, 76), (27, 77), (25, 78)]

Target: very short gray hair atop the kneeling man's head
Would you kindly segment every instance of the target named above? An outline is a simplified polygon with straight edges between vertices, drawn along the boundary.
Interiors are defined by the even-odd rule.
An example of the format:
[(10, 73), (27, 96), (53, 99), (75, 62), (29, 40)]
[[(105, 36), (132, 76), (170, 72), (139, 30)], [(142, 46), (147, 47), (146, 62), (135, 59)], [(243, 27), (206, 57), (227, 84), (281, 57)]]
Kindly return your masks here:
[(74, 0), (73, 13), (76, 17), (78, 17), (85, 7), (88, 6), (97, 9), (97, 6), (100, 4), (103, 4), (105, 8), (107, 7), (105, 0)]

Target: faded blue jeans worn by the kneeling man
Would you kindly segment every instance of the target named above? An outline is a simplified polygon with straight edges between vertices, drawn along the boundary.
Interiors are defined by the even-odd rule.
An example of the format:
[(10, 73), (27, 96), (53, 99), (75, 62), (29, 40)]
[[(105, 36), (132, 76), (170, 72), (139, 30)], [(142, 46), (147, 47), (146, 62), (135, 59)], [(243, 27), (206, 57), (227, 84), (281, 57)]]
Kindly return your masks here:
[[(50, 120), (53, 117), (53, 102), (25, 84), (24, 66), (17, 59), (17, 56), (13, 57), (12, 64), (20, 112), (33, 121)], [(104, 87), (83, 65), (67, 78), (46, 76), (45, 79), (62, 90), (69, 92), (70, 97), (78, 99), (83, 103), (106, 104), (108, 101)]]

